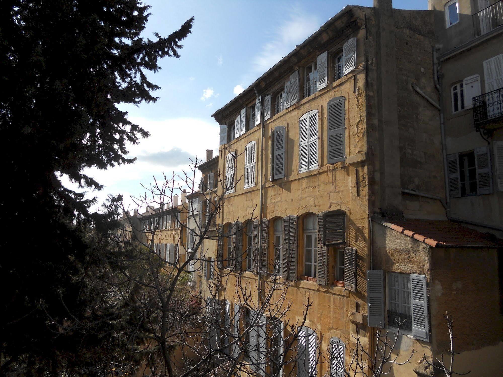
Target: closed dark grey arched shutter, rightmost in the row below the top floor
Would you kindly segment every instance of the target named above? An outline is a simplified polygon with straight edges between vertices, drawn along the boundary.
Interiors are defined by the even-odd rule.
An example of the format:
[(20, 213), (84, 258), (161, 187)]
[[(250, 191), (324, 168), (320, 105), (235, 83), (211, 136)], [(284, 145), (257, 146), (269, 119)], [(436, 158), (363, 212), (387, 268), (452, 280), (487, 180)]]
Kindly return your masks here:
[(344, 161), (345, 145), (345, 107), (344, 97), (332, 98), (327, 104), (328, 114), (328, 156), (329, 164)]

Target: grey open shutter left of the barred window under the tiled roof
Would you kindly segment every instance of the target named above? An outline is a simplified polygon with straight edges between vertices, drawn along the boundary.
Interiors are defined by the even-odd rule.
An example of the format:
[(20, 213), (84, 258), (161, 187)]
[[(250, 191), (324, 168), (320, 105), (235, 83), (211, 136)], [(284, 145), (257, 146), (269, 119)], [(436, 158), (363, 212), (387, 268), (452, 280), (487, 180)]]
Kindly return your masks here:
[(367, 270), (367, 314), (370, 327), (384, 327), (384, 271)]

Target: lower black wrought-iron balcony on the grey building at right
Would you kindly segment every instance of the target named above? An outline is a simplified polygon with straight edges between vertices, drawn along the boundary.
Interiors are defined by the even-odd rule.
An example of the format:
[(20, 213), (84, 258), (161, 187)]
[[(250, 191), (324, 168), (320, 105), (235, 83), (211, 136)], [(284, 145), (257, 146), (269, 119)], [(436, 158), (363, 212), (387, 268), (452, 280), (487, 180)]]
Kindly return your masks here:
[(503, 126), (503, 87), (473, 97), (473, 125), (486, 130)]

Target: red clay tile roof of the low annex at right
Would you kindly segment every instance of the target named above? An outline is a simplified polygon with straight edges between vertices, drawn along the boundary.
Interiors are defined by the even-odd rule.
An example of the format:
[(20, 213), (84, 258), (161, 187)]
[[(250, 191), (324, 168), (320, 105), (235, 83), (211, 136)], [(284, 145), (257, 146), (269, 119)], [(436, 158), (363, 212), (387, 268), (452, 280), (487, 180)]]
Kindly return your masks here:
[(381, 218), (374, 220), (432, 247), (501, 247), (503, 245), (502, 242), (491, 241), (490, 235), (453, 221), (411, 219), (390, 223)]

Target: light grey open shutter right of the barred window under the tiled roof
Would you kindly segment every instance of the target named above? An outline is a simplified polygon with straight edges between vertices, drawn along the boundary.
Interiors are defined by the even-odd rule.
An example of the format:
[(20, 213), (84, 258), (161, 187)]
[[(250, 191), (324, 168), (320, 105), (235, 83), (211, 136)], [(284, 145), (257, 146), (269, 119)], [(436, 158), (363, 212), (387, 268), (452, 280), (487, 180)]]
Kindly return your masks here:
[(425, 275), (410, 274), (410, 292), (412, 296), (412, 336), (429, 341)]

